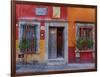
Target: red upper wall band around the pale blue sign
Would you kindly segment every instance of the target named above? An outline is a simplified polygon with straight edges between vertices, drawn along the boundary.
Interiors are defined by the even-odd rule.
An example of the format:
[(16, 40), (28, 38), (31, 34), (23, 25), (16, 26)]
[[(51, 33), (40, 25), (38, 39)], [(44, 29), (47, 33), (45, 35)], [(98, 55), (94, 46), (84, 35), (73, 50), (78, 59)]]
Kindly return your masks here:
[[(48, 14), (43, 16), (35, 15), (36, 7), (46, 7), (48, 8)], [(37, 18), (53, 18), (52, 6), (37, 6), (37, 5), (16, 5), (16, 18), (20, 17), (37, 17)], [(67, 19), (67, 10), (64, 7), (61, 7), (61, 17), (60, 19)]]

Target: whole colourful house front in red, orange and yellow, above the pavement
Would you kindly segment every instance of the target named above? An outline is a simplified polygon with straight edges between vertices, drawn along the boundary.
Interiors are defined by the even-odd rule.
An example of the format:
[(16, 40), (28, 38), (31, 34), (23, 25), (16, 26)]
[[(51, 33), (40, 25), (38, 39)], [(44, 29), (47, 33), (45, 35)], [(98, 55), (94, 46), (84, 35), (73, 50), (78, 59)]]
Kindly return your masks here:
[(16, 5), (17, 62), (91, 63), (94, 54), (95, 9)]

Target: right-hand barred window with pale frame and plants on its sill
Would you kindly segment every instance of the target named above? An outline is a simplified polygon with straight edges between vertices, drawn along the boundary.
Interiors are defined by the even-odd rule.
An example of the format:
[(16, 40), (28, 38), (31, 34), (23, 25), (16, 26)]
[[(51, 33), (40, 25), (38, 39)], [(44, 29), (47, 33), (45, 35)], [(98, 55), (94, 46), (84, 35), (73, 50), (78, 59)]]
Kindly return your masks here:
[(80, 50), (94, 49), (95, 42), (94, 24), (76, 24), (76, 46)]

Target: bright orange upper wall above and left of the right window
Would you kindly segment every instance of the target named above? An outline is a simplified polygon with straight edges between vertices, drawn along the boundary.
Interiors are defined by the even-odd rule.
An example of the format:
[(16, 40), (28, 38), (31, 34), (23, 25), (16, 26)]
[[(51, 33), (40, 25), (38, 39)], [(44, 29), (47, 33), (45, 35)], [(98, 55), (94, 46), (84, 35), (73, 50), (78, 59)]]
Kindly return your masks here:
[(75, 47), (76, 25), (75, 21), (95, 22), (95, 9), (93, 8), (67, 8), (68, 22), (68, 46)]

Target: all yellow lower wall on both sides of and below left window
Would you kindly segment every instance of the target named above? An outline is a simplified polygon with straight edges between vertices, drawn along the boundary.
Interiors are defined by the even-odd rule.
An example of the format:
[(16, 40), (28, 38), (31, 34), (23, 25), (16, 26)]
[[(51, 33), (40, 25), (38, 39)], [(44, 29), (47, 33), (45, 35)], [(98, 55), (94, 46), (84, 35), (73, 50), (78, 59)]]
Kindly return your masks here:
[[(28, 62), (31, 60), (37, 60), (40, 63), (44, 62), (45, 57), (45, 40), (40, 40), (40, 47), (39, 53), (37, 54), (25, 54), (24, 61)], [(18, 54), (20, 54), (19, 47), (18, 47), (18, 40), (16, 40), (16, 60), (18, 61)]]

